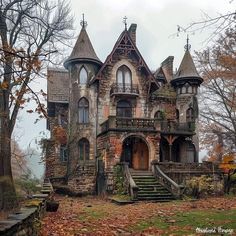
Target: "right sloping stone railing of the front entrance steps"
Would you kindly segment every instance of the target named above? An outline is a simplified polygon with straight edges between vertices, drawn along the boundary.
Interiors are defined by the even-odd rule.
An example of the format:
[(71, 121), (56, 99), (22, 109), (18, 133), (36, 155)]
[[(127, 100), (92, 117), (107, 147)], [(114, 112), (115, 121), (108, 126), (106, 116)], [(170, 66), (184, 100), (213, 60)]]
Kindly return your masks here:
[(161, 183), (165, 186), (174, 196), (177, 198), (181, 198), (184, 192), (184, 186), (177, 184), (174, 180), (169, 178), (157, 165), (157, 163), (152, 163), (152, 171), (154, 176)]

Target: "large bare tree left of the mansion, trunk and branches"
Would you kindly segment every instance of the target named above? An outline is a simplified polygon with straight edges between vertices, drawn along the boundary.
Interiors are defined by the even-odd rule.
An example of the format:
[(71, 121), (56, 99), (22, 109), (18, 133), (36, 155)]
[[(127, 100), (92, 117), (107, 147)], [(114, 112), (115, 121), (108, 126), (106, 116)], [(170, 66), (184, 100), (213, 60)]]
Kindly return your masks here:
[(46, 116), (30, 83), (61, 43), (71, 38), (72, 17), (66, 0), (0, 0), (0, 4), (0, 209), (9, 210), (17, 205), (10, 144), (16, 118), (30, 99)]

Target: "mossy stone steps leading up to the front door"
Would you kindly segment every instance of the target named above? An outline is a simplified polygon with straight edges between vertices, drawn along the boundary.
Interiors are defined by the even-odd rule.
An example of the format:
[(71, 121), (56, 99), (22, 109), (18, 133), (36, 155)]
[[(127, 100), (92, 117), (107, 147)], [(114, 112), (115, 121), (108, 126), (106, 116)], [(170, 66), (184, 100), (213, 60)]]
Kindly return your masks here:
[(157, 182), (151, 171), (130, 169), (130, 173), (139, 188), (138, 200), (167, 202), (175, 199), (169, 190)]

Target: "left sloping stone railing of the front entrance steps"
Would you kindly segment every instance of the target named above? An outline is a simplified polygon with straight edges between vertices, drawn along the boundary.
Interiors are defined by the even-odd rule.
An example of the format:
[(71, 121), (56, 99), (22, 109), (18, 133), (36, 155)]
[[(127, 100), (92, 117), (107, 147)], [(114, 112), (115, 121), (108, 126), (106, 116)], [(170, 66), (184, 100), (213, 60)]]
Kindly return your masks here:
[(135, 184), (135, 182), (130, 174), (129, 164), (127, 162), (123, 162), (122, 165), (123, 165), (125, 181), (126, 181), (127, 187), (128, 187), (128, 192), (130, 193), (132, 200), (137, 200), (138, 186)]

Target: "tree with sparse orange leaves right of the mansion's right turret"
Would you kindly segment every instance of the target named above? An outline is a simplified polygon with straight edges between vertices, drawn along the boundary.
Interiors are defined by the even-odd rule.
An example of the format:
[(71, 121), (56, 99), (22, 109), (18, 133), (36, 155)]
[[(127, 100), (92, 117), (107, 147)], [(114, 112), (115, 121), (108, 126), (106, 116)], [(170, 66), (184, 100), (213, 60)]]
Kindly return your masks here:
[[(227, 29), (217, 43), (197, 53), (204, 83), (201, 91), (202, 143), (222, 154), (236, 149), (236, 31)], [(222, 150), (223, 147), (223, 150)], [(217, 152), (219, 153), (219, 148)]]

